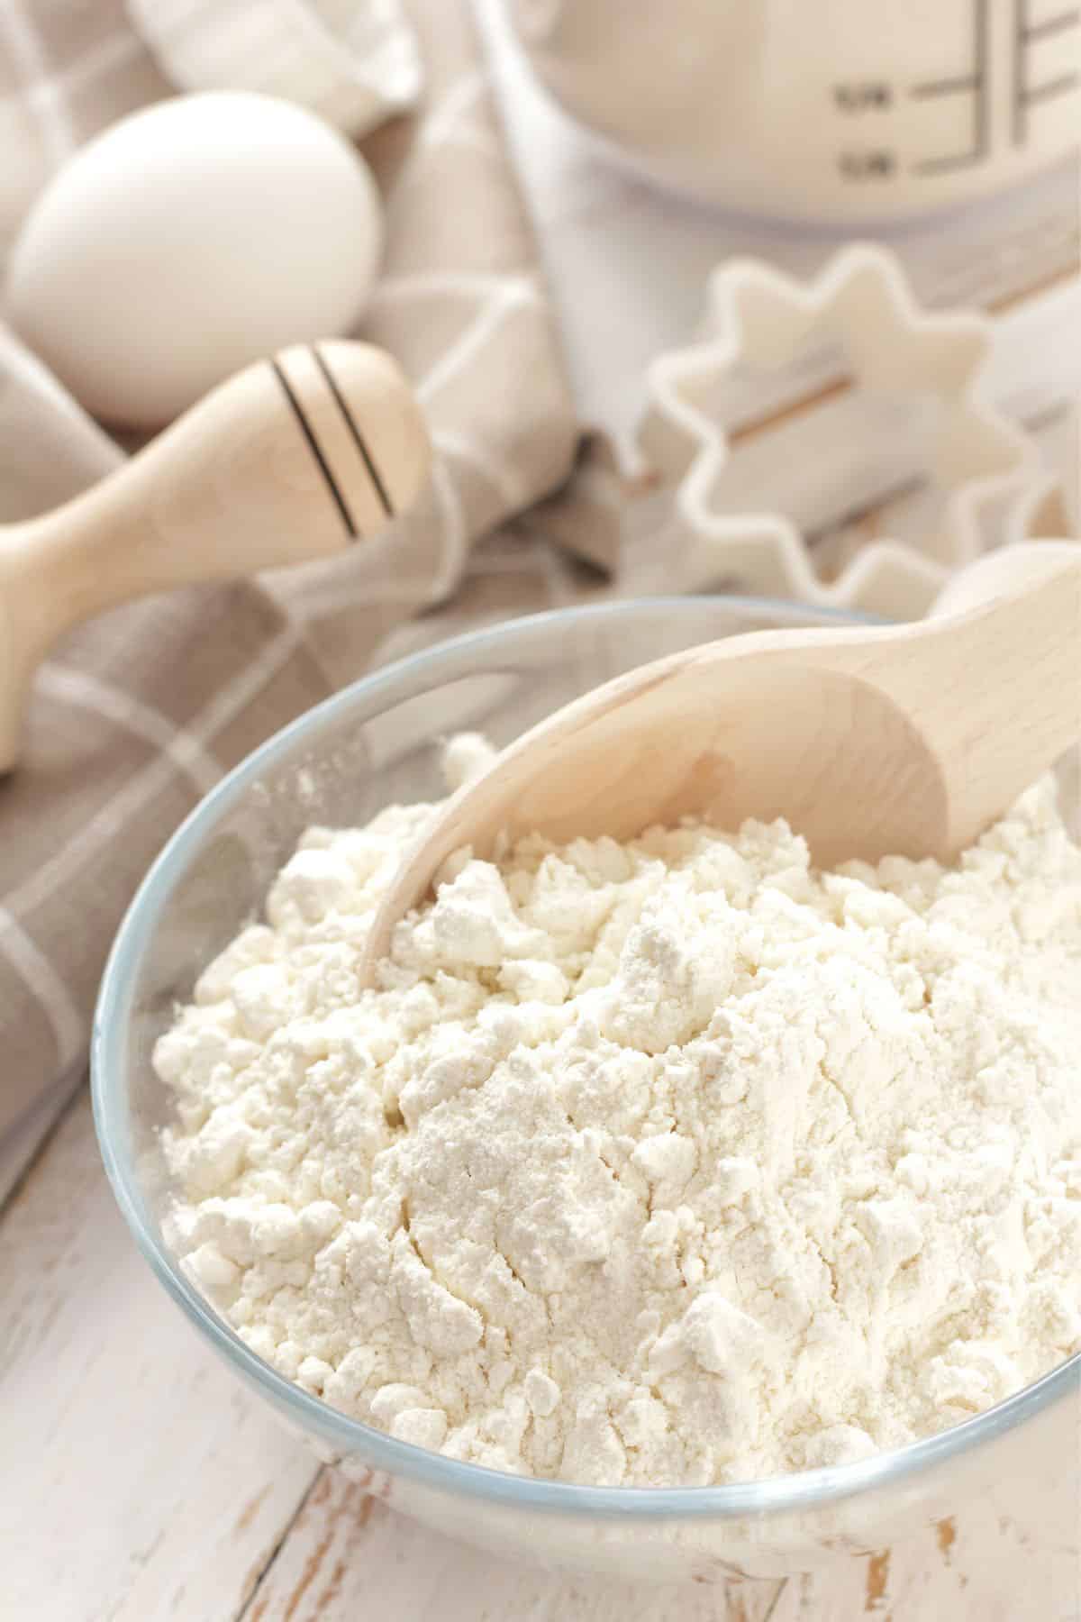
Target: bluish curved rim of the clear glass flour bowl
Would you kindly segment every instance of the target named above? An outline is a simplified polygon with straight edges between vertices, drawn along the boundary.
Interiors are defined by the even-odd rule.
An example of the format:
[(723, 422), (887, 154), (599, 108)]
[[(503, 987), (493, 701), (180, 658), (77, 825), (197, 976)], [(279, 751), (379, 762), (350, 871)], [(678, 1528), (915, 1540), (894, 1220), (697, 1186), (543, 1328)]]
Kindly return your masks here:
[[(677, 1518), (744, 1515), (780, 1515), (801, 1508), (820, 1507), (849, 1499), (870, 1487), (895, 1484), (935, 1465), (968, 1453), (976, 1447), (1023, 1424), (1050, 1403), (1081, 1387), (1081, 1353), (1060, 1364), (1050, 1374), (1026, 1385), (1021, 1392), (997, 1403), (982, 1414), (966, 1419), (950, 1431), (912, 1442), (903, 1448), (875, 1453), (872, 1458), (851, 1465), (831, 1465), (797, 1474), (771, 1476), (763, 1481), (734, 1483), (720, 1487), (590, 1487), (564, 1481), (536, 1481), (530, 1476), (512, 1476), (468, 1465), (442, 1453), (399, 1442), (382, 1431), (374, 1431), (360, 1419), (339, 1413), (318, 1397), (310, 1397), (267, 1362), (258, 1358), (240, 1337), (217, 1317), (207, 1301), (188, 1281), (178, 1264), (169, 1254), (156, 1233), (156, 1225), (139, 1189), (131, 1145), (126, 1139), (126, 1111), (122, 1080), (126, 1074), (126, 1043), (135, 988), (135, 970), (147, 942), (152, 939), (159, 918), (206, 835), (269, 767), (282, 762), (306, 733), (318, 733), (323, 725), (340, 720), (358, 702), (370, 702), (392, 693), (408, 678), (415, 691), (431, 688), (439, 667), (454, 667), (473, 652), (493, 650), (501, 644), (514, 646), (520, 637), (541, 633), (553, 624), (570, 621), (617, 620), (655, 615), (702, 613), (715, 605), (720, 611), (739, 618), (763, 618), (791, 621), (793, 624), (865, 624), (867, 615), (844, 610), (810, 610), (797, 603), (771, 602), (755, 597), (645, 597), (614, 603), (593, 603), (582, 608), (556, 608), (548, 613), (527, 615), (502, 621), (481, 631), (451, 637), (400, 659), (392, 665), (361, 676), (342, 688), (272, 738), (254, 749), (229, 772), (180, 824), (143, 879), (120, 925), (105, 973), (102, 976), (94, 1030), (91, 1036), (91, 1085), (94, 1098), (94, 1122), (105, 1171), (117, 1204), (154, 1273), (173, 1301), (186, 1312), (211, 1345), (230, 1362), (238, 1366), (271, 1401), (285, 1410), (308, 1432), (314, 1432), (339, 1452), (363, 1453), (365, 1461), (392, 1476), (404, 1476), (428, 1487), (452, 1491), (467, 1497), (514, 1504), (538, 1512), (596, 1518)], [(421, 681), (423, 678), (423, 681)], [(421, 681), (418, 686), (417, 683)], [(405, 694), (404, 694), (405, 696)], [(412, 696), (412, 694), (410, 694)]]

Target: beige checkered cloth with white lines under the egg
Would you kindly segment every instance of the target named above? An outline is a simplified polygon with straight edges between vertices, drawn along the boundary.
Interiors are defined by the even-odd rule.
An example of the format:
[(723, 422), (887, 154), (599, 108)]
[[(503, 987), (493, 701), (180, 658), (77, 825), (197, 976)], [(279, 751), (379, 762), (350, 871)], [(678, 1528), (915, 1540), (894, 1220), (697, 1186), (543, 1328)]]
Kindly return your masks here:
[[(130, 11), (120, 0), (3, 0), (0, 251), (73, 146), (194, 83), (201, 62), (207, 83), (243, 65), (245, 83), (284, 89), (282, 60), (293, 58), (267, 65), (264, 54), (279, 3), (300, 28), (300, 0), (133, 0)], [(528, 540), (504, 534), (472, 550), (564, 477), (574, 420), (468, 0), (410, 0), (412, 34), (387, 0), (370, 5), (386, 26), (366, 45), (357, 36), (357, 49), (389, 52), (397, 76), (353, 79), (348, 42), (335, 36), (331, 50), (332, 26), (365, 11), (361, 0), (318, 0), (319, 52), (295, 65), (324, 112), (365, 128), (417, 89), (418, 47), (420, 110), (365, 141), (389, 227), (365, 336), (418, 386), (436, 444), (431, 493), (392, 537), (331, 564), (147, 600), (55, 649), (34, 691), (24, 761), (0, 783), (0, 1134), (81, 1072), (120, 915), (180, 817), (233, 762), (373, 660), (572, 589), (572, 566)], [(245, 26), (258, 15), (263, 34), (258, 49), (230, 57), (233, 13)], [(193, 34), (199, 19), (212, 31), (206, 52)], [(237, 67), (222, 68), (230, 60)], [(120, 457), (0, 334), (0, 519), (55, 506)], [(455, 592), (441, 618), (417, 621)]]

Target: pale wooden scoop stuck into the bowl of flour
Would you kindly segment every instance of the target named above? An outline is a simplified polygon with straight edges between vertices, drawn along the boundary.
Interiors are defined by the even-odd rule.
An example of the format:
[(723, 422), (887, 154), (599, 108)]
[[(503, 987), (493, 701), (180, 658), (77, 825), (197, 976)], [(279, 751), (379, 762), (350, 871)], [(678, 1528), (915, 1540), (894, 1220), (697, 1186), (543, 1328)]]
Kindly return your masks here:
[(363, 967), (371, 978), (464, 845), (784, 816), (820, 866), (948, 860), (1079, 736), (1081, 547), (1066, 542), (992, 553), (912, 624), (690, 647), (556, 710), (465, 783), (402, 861)]

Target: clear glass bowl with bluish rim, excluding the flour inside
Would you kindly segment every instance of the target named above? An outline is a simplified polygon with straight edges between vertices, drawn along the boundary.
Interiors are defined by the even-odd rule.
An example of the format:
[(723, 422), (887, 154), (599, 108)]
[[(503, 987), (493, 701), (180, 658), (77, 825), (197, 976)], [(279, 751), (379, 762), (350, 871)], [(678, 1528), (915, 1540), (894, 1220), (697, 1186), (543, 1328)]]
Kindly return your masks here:
[[(350, 826), (391, 801), (439, 798), (439, 743), (455, 730), (506, 744), (643, 660), (741, 631), (838, 623), (852, 620), (733, 597), (655, 599), (517, 620), (404, 659), (300, 717), (207, 795), (120, 928), (94, 1022), (92, 1085), (105, 1168), (139, 1249), (216, 1351), (323, 1460), (441, 1531), (624, 1578), (784, 1577), (882, 1549), (981, 1499), (1071, 1547), (1081, 1356), (951, 1431), (861, 1463), (742, 1486), (579, 1487), (442, 1458), (306, 1395), (245, 1346), (162, 1238), (170, 1187), (157, 1129), (169, 1100), (151, 1049), (199, 968), (261, 908), (308, 824)], [(1070, 775), (1076, 800), (1076, 762)]]

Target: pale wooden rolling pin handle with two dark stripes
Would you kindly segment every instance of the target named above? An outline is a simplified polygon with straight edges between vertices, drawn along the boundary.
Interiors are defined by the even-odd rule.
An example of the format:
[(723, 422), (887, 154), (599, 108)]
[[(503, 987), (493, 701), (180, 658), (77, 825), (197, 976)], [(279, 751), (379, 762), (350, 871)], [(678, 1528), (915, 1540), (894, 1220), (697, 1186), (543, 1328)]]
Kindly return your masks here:
[(417, 498), (428, 433), (378, 349), (285, 349), (214, 389), (66, 506), (0, 527), (0, 770), (36, 667), (89, 615), (147, 592), (344, 551)]

